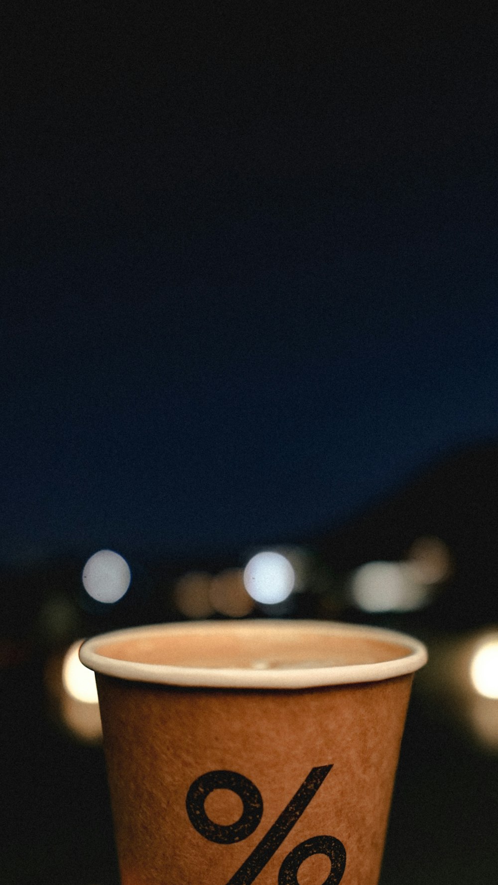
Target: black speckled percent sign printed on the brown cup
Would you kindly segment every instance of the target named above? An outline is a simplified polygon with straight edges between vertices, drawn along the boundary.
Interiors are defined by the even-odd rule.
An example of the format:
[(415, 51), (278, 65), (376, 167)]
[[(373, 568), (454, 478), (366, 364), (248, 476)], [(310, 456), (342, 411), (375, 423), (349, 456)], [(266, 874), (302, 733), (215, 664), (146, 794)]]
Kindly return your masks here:
[[(284, 842), (292, 827), (300, 819), (320, 789), (332, 766), (312, 768), (307, 778), (301, 783), (300, 789), (294, 794), (284, 811), (279, 814), (275, 823), (268, 829), (249, 857), (231, 877), (227, 885), (250, 885), (259, 876), (268, 860), (273, 857), (277, 848)], [(207, 817), (206, 798), (214, 789), (230, 789), (242, 800), (244, 810), (233, 824), (217, 824)], [(261, 822), (263, 800), (260, 790), (243, 774), (230, 771), (207, 772), (198, 777), (187, 793), (187, 813), (192, 827), (209, 842), (230, 845), (242, 842), (251, 835)], [(278, 873), (278, 885), (299, 885), (298, 870), (306, 858), (313, 854), (324, 854), (331, 861), (331, 872), (323, 885), (338, 885), (346, 866), (346, 849), (344, 845), (331, 835), (315, 835), (301, 842), (284, 858)]]

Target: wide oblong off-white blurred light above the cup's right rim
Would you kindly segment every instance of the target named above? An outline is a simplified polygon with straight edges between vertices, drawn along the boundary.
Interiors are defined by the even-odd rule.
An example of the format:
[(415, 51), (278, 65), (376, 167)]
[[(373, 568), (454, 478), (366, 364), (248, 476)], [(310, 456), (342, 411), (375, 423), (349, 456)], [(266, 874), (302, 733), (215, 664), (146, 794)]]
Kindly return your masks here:
[(350, 579), (354, 604), (363, 612), (412, 612), (426, 604), (429, 590), (409, 563), (368, 562)]

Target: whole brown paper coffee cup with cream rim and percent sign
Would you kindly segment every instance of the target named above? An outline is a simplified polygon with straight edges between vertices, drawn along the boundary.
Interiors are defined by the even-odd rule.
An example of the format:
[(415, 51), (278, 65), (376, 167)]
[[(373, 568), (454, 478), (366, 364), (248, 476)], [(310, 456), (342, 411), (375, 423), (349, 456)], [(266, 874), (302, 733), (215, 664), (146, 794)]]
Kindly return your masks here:
[(123, 885), (376, 885), (421, 643), (245, 620), (122, 630), (80, 655)]

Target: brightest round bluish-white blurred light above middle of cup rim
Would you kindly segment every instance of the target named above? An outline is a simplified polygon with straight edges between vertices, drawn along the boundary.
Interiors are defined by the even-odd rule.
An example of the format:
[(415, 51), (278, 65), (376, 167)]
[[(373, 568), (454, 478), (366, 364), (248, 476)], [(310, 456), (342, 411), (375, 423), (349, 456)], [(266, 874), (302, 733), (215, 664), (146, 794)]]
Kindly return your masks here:
[(276, 605), (290, 596), (296, 575), (291, 563), (275, 550), (256, 553), (244, 570), (244, 585), (257, 603)]

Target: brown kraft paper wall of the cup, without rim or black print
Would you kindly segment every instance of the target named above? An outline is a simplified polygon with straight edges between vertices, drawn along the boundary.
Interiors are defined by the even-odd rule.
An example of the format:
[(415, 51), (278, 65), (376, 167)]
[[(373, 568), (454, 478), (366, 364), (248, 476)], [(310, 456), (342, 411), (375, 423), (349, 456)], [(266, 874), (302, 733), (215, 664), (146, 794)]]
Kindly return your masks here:
[[(284, 690), (96, 677), (122, 885), (227, 885), (315, 766), (332, 767), (261, 872), (246, 881), (377, 885), (412, 673)], [(261, 793), (261, 822), (237, 843), (210, 841), (187, 813), (192, 783), (220, 770), (243, 775)], [(243, 804), (230, 789), (216, 789), (205, 810), (230, 825)], [(334, 873), (316, 853), (301, 863), (299, 879), (281, 881), (285, 858), (315, 836), (342, 843), (344, 871)]]

